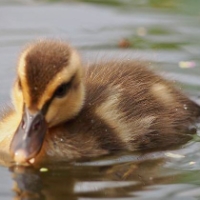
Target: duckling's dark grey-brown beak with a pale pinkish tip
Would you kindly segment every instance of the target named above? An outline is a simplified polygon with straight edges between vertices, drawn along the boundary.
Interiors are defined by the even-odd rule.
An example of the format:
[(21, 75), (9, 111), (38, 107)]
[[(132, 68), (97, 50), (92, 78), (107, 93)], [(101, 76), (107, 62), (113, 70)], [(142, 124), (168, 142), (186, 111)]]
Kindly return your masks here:
[(31, 114), (25, 108), (22, 120), (14, 134), (10, 152), (17, 163), (26, 163), (40, 152), (47, 124), (44, 115), (38, 111)]

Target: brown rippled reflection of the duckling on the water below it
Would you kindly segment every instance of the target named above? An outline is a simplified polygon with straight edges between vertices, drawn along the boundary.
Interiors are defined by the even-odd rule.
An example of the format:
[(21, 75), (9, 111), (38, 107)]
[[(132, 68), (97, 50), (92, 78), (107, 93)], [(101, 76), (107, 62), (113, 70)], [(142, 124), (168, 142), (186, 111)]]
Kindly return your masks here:
[[(14, 199), (133, 197), (135, 192), (148, 186), (174, 182), (174, 175), (166, 175), (161, 170), (163, 162), (163, 158), (157, 158), (105, 166), (61, 163), (48, 166), (45, 172), (33, 167), (13, 166), (10, 171), (14, 180)], [(162, 172), (158, 173), (160, 170)]]

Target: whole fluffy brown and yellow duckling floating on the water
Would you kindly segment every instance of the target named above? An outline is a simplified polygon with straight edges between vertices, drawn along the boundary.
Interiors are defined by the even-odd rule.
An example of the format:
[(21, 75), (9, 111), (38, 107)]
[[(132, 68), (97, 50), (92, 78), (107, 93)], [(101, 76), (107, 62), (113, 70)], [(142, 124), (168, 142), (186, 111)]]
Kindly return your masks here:
[(20, 164), (166, 149), (188, 141), (200, 115), (199, 105), (144, 63), (83, 66), (61, 41), (25, 48), (12, 99), (0, 147)]

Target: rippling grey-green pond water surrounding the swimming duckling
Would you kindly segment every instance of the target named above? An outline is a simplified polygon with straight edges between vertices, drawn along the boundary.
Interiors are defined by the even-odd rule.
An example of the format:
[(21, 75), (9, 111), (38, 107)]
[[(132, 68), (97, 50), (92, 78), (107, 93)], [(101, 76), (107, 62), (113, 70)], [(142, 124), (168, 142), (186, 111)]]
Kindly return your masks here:
[[(59, 38), (85, 63), (148, 60), (199, 102), (198, 1), (0, 1), (0, 102), (9, 100), (22, 47)], [(90, 3), (89, 3), (90, 2)], [(96, 3), (92, 3), (96, 2)], [(129, 48), (120, 48), (126, 39)], [(0, 167), (5, 199), (199, 199), (199, 137), (176, 150), (118, 155), (43, 168)]]

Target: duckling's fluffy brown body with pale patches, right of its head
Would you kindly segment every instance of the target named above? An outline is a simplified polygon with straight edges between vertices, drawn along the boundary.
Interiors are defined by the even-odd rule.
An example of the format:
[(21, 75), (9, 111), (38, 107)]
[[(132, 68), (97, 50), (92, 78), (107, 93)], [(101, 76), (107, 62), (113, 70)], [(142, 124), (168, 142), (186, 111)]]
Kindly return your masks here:
[(80, 113), (49, 129), (42, 149), (49, 157), (166, 149), (191, 139), (200, 107), (144, 64), (94, 64), (86, 68), (84, 81)]

